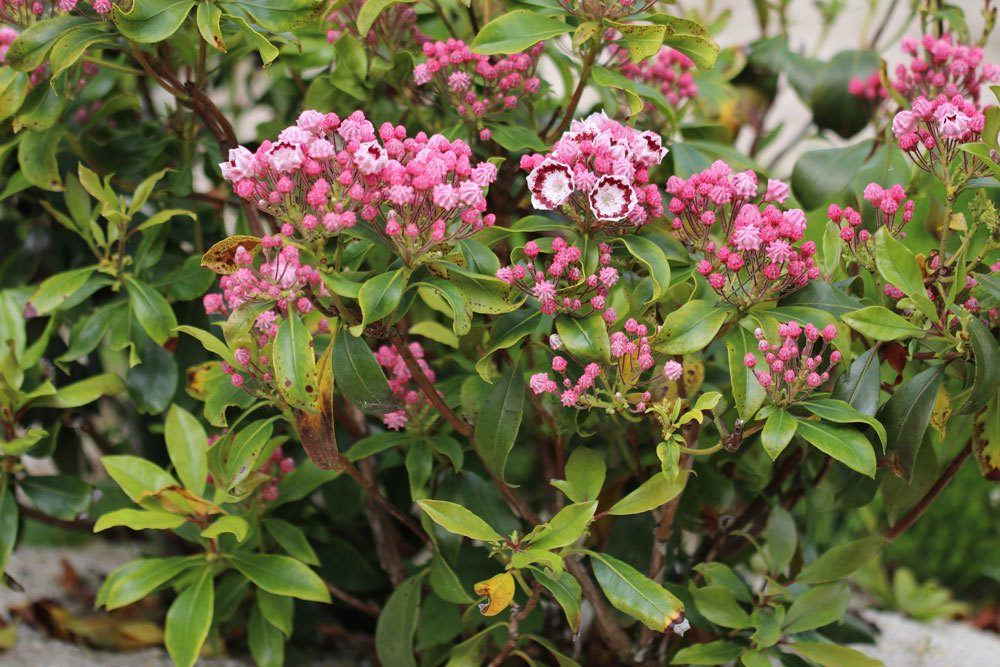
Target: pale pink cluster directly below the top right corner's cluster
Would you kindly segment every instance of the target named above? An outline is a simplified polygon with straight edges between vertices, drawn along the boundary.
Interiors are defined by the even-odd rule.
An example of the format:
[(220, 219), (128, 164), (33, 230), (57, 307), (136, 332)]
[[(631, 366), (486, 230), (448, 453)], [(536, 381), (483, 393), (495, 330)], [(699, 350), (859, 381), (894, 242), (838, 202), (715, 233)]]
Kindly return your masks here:
[[(979, 141), (985, 125), (986, 116), (961, 95), (938, 95), (932, 100), (920, 95), (910, 110), (892, 119), (892, 132), (917, 166), (935, 173), (935, 163), (951, 164), (959, 145)], [(978, 161), (976, 165), (982, 171)]]

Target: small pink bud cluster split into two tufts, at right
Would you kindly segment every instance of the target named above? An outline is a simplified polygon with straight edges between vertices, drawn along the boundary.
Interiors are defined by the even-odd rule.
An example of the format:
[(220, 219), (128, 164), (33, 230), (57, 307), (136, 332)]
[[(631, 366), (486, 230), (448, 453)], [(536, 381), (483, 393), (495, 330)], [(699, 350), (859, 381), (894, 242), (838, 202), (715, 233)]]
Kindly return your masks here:
[(914, 204), (912, 199), (906, 199), (906, 191), (898, 183), (888, 189), (878, 183), (869, 183), (865, 186), (864, 198), (875, 209), (874, 231), (861, 229), (861, 213), (850, 206), (841, 208), (830, 204), (826, 214), (840, 226), (840, 238), (851, 258), (868, 270), (874, 270), (874, 232), (884, 228), (894, 238), (906, 238), (903, 227), (913, 219)]

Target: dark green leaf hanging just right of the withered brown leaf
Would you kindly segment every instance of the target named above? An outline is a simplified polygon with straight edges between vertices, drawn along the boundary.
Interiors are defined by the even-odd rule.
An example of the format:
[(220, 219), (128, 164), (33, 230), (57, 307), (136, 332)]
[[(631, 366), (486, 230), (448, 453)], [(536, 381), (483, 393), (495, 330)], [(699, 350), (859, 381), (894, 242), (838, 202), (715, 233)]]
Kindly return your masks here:
[(333, 345), (332, 359), (337, 388), (356, 407), (370, 415), (401, 409), (399, 399), (385, 379), (385, 372), (364, 340), (340, 330)]

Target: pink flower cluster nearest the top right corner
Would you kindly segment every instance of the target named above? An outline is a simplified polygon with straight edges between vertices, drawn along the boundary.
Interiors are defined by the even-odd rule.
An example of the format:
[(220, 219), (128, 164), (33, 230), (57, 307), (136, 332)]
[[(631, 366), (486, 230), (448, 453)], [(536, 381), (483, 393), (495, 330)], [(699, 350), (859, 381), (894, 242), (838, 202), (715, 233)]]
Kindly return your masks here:
[(933, 98), (944, 94), (961, 95), (978, 103), (983, 85), (1000, 80), (1000, 68), (983, 61), (981, 48), (961, 44), (950, 34), (927, 34), (919, 42), (905, 37), (902, 46), (912, 60), (909, 65), (896, 67), (892, 87), (909, 100), (918, 95)]

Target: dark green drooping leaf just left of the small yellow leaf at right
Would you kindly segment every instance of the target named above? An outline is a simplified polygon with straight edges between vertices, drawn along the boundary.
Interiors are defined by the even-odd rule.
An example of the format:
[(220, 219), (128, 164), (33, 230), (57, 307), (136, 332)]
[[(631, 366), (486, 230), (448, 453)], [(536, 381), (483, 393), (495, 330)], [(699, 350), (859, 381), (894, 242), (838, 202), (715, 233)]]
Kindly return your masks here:
[(930, 424), (942, 378), (940, 366), (917, 373), (896, 387), (879, 412), (878, 419), (885, 425), (890, 453), (907, 481), (913, 479), (913, 464)]

